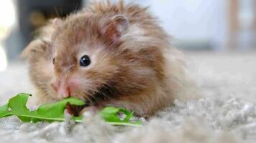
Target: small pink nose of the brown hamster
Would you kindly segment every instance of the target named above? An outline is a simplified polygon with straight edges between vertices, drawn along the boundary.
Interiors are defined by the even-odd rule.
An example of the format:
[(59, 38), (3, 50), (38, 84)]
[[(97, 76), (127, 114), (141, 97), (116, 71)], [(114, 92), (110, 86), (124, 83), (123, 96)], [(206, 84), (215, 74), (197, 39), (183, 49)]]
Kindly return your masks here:
[(70, 97), (70, 88), (65, 86), (65, 84), (61, 82), (52, 82), (52, 88), (57, 92), (58, 96), (67, 98)]

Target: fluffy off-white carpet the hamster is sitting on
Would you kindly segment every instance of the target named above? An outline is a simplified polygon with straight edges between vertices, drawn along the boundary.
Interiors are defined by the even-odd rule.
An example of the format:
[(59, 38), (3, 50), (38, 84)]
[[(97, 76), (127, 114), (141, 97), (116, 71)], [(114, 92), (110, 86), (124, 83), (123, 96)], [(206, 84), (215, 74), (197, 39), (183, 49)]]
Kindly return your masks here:
[[(143, 127), (114, 127), (86, 115), (83, 124), (24, 124), (0, 119), (0, 142), (256, 142), (256, 52), (188, 53), (202, 97), (173, 107)], [(32, 92), (23, 63), (0, 72), (0, 104)]]

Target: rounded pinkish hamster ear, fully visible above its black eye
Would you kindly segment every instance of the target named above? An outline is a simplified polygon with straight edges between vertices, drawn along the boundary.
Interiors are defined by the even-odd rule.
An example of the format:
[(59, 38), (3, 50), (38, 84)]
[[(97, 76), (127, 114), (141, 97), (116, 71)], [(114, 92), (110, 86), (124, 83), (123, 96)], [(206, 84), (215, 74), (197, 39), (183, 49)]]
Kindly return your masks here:
[(126, 16), (116, 15), (104, 22), (101, 33), (111, 41), (118, 40), (127, 32), (129, 21)]

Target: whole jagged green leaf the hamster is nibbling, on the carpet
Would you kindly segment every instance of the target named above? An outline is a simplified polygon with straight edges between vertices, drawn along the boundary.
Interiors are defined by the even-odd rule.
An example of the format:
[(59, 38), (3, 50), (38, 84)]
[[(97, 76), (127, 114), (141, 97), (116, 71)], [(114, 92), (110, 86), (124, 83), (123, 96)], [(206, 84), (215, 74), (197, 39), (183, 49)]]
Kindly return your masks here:
[[(37, 110), (29, 111), (26, 104), (27, 100), (31, 96), (30, 94), (17, 94), (17, 96), (9, 99), (8, 104), (0, 107), (0, 118), (16, 115), (22, 122), (53, 122), (53, 121), (64, 121), (64, 110), (67, 103), (83, 106), (85, 103), (81, 99), (69, 97), (55, 103), (42, 104)], [(124, 114), (126, 117), (121, 119), (118, 114)], [(127, 109), (116, 108), (116, 107), (105, 107), (99, 114), (108, 123), (113, 125), (125, 125), (125, 126), (141, 126), (142, 122), (132, 122), (133, 114)], [(83, 117), (72, 117), (75, 122), (82, 122)]]

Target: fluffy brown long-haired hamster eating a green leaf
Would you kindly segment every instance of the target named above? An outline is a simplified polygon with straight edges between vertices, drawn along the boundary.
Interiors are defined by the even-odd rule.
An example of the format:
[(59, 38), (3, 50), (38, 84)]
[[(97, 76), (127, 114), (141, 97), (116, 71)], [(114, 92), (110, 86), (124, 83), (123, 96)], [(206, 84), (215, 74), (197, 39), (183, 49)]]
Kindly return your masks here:
[(65, 97), (152, 115), (184, 89), (183, 56), (136, 4), (95, 2), (53, 19), (23, 51), (37, 103)]

